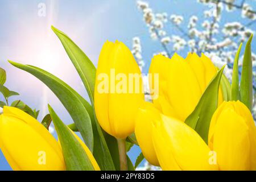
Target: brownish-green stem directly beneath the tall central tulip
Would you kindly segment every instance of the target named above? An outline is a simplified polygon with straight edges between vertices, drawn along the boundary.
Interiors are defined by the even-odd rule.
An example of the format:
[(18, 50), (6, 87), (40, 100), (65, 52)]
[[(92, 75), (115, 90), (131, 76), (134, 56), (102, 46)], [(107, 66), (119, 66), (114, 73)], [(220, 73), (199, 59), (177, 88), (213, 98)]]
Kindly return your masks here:
[(117, 139), (119, 160), (120, 160), (120, 170), (127, 171), (127, 157), (125, 148), (125, 139)]

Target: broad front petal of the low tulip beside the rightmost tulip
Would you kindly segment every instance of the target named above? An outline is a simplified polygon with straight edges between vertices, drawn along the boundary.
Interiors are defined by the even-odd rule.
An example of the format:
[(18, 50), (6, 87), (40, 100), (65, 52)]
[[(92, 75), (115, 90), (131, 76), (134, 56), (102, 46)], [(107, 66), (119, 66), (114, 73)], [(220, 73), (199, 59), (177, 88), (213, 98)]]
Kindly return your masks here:
[(152, 141), (163, 170), (217, 170), (209, 162), (210, 149), (184, 122), (162, 115), (152, 127)]

